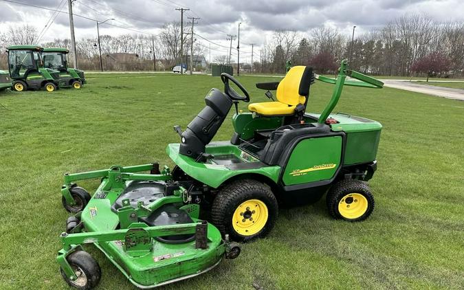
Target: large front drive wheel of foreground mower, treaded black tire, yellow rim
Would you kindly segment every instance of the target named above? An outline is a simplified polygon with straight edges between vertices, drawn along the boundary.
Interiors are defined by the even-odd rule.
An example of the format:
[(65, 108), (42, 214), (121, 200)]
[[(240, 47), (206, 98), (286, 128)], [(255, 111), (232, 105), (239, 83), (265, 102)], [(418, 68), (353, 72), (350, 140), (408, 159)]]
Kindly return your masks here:
[(221, 234), (234, 241), (251, 241), (269, 234), (278, 215), (278, 204), (265, 183), (252, 179), (232, 181), (214, 198), (211, 221)]

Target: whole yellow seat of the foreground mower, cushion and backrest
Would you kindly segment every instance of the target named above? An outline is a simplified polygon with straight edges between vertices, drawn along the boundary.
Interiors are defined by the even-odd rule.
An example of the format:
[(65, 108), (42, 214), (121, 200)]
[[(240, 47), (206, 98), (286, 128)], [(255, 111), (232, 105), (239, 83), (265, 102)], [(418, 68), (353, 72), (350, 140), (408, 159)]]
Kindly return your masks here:
[(313, 70), (302, 65), (292, 67), (277, 87), (276, 102), (256, 102), (248, 110), (258, 115), (293, 115), (298, 104), (305, 104)]

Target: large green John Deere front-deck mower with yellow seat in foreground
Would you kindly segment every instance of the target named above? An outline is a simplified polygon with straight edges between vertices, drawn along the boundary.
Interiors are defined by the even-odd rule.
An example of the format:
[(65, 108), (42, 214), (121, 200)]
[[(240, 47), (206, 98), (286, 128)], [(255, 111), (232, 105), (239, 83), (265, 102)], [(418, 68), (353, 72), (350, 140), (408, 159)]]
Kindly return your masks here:
[[(321, 114), (307, 114), (315, 78), (335, 89)], [(272, 102), (250, 104), (243, 113), (246, 89), (228, 74), (221, 80), (224, 91), (210, 90), (186, 131), (174, 127), (181, 142), (166, 148), (172, 170), (153, 163), (65, 174), (62, 201), (74, 216), (60, 236), (57, 260), (69, 285), (89, 289), (100, 280), (98, 263), (82, 249), (86, 243), (134, 285), (149, 288), (201, 274), (224, 256), (236, 258), (240, 247), (232, 241), (268, 234), (279, 202), (302, 204), (328, 191), (335, 218), (361, 221), (371, 214), (373, 195), (364, 181), (376, 169), (382, 126), (331, 111), (343, 85), (380, 88), (382, 82), (348, 69), (346, 61), (337, 79), (292, 67), (280, 82), (256, 84)], [(232, 107), (231, 140), (211, 142)], [(101, 180), (92, 197), (76, 185), (84, 179)]]

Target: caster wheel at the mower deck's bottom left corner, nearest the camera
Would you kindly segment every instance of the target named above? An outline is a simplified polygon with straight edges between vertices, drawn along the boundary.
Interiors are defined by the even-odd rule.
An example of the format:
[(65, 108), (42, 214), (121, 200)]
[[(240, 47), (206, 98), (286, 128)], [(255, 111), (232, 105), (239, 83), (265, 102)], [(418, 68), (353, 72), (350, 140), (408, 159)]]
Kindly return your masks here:
[(89, 253), (84, 251), (73, 252), (67, 256), (67, 262), (77, 276), (75, 280), (71, 280), (66, 276), (63, 269), (60, 268), (61, 276), (63, 276), (67, 285), (76, 289), (86, 290), (93, 289), (93, 287), (98, 285), (100, 278), (102, 278), (102, 270), (97, 261)]

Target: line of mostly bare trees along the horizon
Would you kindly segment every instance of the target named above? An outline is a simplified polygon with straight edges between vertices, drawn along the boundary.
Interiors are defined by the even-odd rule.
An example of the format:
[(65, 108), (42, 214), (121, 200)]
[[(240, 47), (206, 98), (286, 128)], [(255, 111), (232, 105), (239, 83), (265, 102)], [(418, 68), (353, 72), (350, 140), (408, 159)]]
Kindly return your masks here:
[[(180, 62), (186, 63), (192, 41), (194, 55), (207, 52), (208, 48), (201, 39), (192, 38), (187, 33), (184, 35), (183, 56), (180, 55), (179, 22), (166, 23), (154, 39), (143, 34), (102, 35), (100, 43), (106, 69), (153, 70), (155, 58), (157, 69), (168, 70)], [(4, 52), (8, 45), (36, 43), (36, 36), (35, 28), (30, 25), (10, 27), (10, 30), (0, 33), (0, 47)], [(56, 39), (42, 45), (70, 47), (70, 41)], [(97, 39), (81, 39), (76, 45), (80, 67), (98, 69)], [(137, 61), (114, 67), (111, 54), (132, 54)], [(365, 74), (463, 76), (464, 22), (438, 23), (427, 15), (406, 14), (383, 27), (358, 35), (354, 41), (330, 27), (316, 27), (308, 34), (278, 30), (273, 32), (266, 45), (256, 47), (252, 66), (241, 64), (241, 67), (247, 70), (252, 67), (254, 72), (259, 73), (284, 73), (286, 63), (290, 61), (292, 65), (311, 65), (320, 74), (332, 74), (344, 58), (349, 59), (351, 68)], [(213, 63), (223, 64), (227, 60), (228, 56), (219, 55)], [(108, 67), (111, 64), (113, 67)]]

